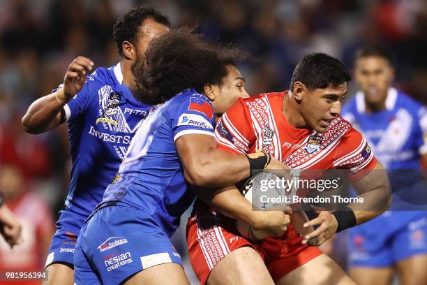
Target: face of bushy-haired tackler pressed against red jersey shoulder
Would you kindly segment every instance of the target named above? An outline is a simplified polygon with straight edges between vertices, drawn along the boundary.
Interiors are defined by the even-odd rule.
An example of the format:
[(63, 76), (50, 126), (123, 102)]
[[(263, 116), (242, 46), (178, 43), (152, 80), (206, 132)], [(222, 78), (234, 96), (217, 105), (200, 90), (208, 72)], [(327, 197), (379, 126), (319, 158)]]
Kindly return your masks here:
[(237, 101), (238, 98), (249, 97), (245, 90), (245, 78), (236, 66), (227, 66), (228, 74), (223, 78), (222, 85), (212, 85), (216, 97), (212, 101), (213, 109), (218, 117)]

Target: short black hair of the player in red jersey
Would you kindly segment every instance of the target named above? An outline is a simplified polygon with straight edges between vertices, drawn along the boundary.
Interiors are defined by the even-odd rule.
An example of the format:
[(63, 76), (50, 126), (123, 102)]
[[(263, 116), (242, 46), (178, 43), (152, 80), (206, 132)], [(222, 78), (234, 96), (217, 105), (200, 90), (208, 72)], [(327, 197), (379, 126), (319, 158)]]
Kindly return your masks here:
[(292, 73), (290, 90), (294, 83), (302, 82), (310, 90), (338, 86), (352, 79), (347, 67), (328, 54), (322, 52), (306, 54)]

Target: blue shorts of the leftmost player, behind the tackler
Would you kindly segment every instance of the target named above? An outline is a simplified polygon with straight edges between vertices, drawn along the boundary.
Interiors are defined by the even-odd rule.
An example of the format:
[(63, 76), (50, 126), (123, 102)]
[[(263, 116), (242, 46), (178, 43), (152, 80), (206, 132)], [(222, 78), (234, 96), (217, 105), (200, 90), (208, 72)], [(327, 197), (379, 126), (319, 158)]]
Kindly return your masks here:
[(59, 213), (59, 219), (55, 225), (57, 231), (50, 243), (45, 268), (52, 263), (64, 263), (70, 268), (74, 267), (75, 243), (85, 219), (87, 217), (68, 209)]

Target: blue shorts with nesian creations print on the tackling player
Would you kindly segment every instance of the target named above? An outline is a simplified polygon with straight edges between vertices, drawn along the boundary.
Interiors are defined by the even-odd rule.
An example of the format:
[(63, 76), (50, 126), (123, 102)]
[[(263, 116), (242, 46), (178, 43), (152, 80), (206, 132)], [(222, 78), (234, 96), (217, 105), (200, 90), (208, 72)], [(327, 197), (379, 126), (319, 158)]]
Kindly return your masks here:
[(137, 272), (181, 256), (152, 215), (128, 205), (96, 210), (75, 247), (74, 282), (120, 284)]

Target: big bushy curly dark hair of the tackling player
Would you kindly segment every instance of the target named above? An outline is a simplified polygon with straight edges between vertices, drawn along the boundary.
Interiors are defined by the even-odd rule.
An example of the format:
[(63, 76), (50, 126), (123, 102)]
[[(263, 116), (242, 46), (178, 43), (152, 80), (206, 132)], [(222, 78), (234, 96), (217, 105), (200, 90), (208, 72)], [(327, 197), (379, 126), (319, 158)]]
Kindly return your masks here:
[(238, 47), (207, 43), (193, 29), (174, 29), (151, 41), (144, 64), (135, 68), (134, 96), (158, 104), (184, 89), (202, 93), (206, 84), (223, 83), (227, 65), (253, 59)]

